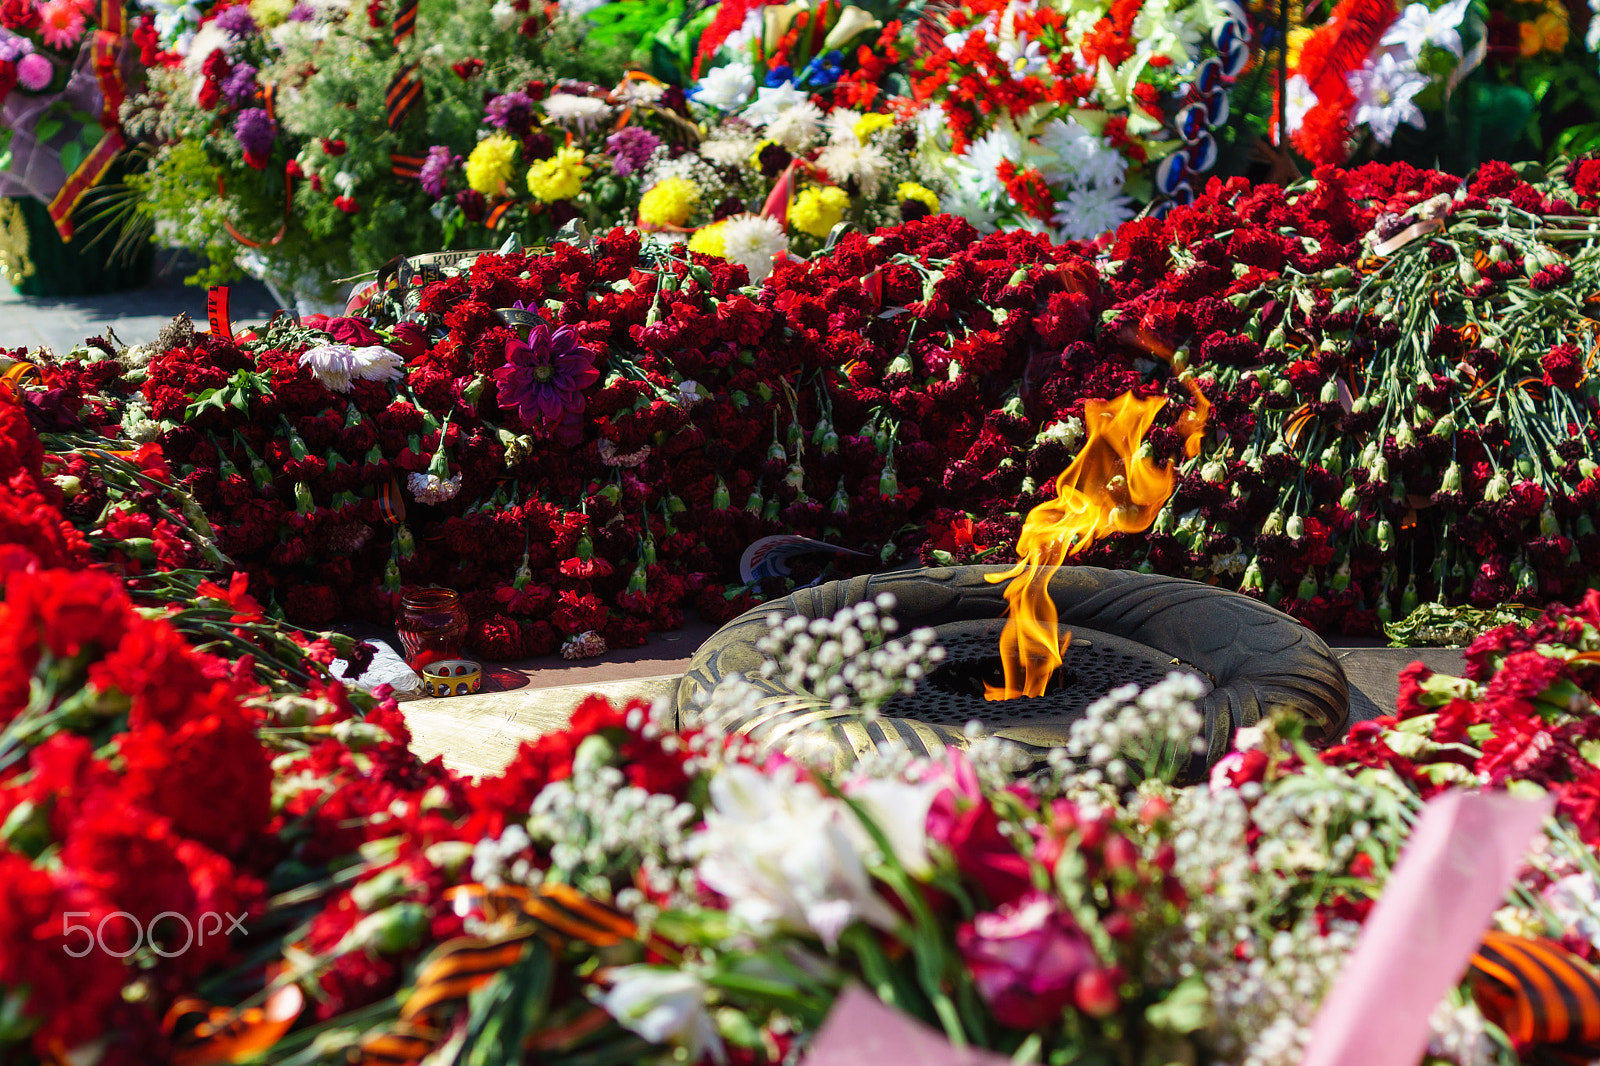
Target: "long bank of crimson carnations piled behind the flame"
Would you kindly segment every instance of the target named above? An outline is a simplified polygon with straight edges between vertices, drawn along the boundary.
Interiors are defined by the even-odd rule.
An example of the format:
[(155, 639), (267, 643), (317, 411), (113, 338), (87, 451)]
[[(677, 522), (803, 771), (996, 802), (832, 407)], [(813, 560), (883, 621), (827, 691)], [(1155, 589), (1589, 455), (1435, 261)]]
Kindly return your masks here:
[[(438, 583), (464, 591), (480, 656), (589, 631), (629, 647), (824, 565), (1006, 554), (1082, 442), (1085, 400), (1131, 391), (1171, 397), (1149, 447), (1178, 490), (1149, 535), (1078, 562), (1360, 634), (1429, 600), (1573, 599), (1600, 565), (1581, 355), (1600, 277), (1579, 254), (1597, 189), (1594, 160), (1213, 181), (1101, 246), (934, 216), (760, 288), (614, 230), (483, 254), (325, 331), (195, 335), (123, 376), (48, 373), (110, 434), (147, 405), (221, 551), (306, 626), (387, 621), (403, 586)], [(544, 407), (502, 394), (514, 354), (528, 381), (546, 359), (530, 319), (534, 347), (576, 360)], [(330, 344), (394, 370), (328, 378)], [(1184, 459), (1190, 386), (1211, 416)], [(741, 584), (741, 552), (773, 533), (866, 555)]]

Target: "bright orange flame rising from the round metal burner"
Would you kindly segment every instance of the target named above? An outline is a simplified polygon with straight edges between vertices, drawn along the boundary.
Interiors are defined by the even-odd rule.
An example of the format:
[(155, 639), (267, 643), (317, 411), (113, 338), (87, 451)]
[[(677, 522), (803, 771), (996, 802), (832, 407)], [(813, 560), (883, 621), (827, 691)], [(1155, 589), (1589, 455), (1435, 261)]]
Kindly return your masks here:
[[(1200, 389), (1189, 384), (1195, 405), (1178, 419), (1184, 455), (1200, 453), (1200, 435), (1211, 405)], [(1083, 423), (1088, 439), (1072, 464), (1056, 479), (1056, 498), (1034, 507), (1018, 538), (1021, 560), (1005, 573), (989, 575), (990, 583), (1010, 581), (1005, 589), (1006, 623), (1000, 632), (1000, 663), (1005, 685), (984, 683), (986, 699), (1043, 696), (1051, 674), (1061, 666), (1072, 634), (1058, 639), (1056, 602), (1050, 599), (1050, 578), (1069, 555), (1088, 549), (1107, 533), (1139, 533), (1150, 528), (1176, 475), (1171, 464), (1157, 464), (1139, 455), (1144, 437), (1166, 397), (1139, 399), (1125, 392), (1115, 400), (1088, 400)]]

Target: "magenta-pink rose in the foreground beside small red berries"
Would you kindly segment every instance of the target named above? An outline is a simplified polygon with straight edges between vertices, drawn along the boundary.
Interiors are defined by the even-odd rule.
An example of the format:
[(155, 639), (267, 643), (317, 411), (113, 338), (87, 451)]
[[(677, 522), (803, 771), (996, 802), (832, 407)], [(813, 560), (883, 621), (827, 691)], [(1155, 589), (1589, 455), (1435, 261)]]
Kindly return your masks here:
[(973, 917), (955, 946), (995, 1020), (1016, 1029), (1056, 1023), (1075, 1004), (1078, 980), (1101, 970), (1083, 930), (1042, 892)]

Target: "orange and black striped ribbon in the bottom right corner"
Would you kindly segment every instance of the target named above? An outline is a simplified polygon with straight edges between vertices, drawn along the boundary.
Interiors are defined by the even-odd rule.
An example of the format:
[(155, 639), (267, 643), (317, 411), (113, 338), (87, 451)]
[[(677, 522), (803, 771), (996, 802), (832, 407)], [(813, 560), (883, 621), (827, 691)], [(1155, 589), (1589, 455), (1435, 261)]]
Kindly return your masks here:
[(1467, 970), (1483, 1016), (1552, 1061), (1600, 1058), (1600, 973), (1552, 940), (1490, 932)]

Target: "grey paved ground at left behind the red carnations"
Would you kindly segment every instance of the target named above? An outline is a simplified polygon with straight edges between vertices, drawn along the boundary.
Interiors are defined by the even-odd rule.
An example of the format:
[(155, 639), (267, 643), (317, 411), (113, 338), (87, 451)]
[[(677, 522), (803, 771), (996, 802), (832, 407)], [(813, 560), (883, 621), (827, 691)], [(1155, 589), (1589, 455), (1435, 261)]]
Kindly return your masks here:
[[(192, 261), (168, 256), (144, 288), (104, 296), (18, 296), (0, 283), (0, 347), (43, 344), (67, 352), (107, 328), (125, 344), (144, 344), (182, 312), (205, 328), (205, 290), (182, 282), (192, 272)], [(230, 285), (229, 304), (234, 325), (262, 323), (278, 309), (259, 282)]]

